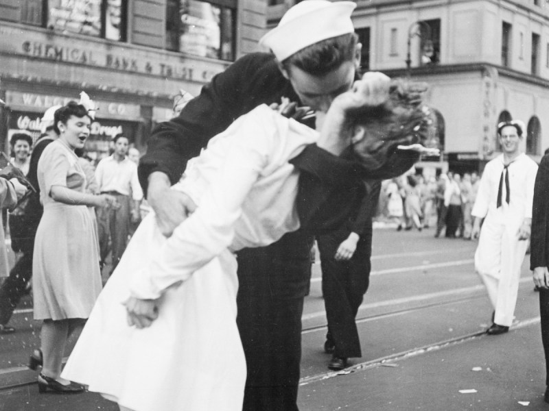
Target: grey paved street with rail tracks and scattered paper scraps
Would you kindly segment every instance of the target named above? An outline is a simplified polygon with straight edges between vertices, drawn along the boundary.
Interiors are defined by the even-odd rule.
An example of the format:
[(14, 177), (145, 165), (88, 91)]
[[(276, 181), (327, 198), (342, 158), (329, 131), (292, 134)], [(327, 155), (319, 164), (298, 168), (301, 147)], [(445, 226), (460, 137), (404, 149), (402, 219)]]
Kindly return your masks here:
[[(376, 229), (371, 285), (358, 314), (363, 357), (342, 373), (326, 368), (315, 264), (303, 312), (300, 410), (548, 410), (528, 257), (515, 325), (508, 334), (487, 336), (491, 307), (473, 270), (475, 247), (435, 239), (432, 230)], [(117, 410), (92, 393), (38, 395), (29, 384), (36, 374), (24, 367), (38, 345), (31, 319), (30, 306), (21, 307), (13, 323), (18, 333), (0, 339), (0, 411)]]

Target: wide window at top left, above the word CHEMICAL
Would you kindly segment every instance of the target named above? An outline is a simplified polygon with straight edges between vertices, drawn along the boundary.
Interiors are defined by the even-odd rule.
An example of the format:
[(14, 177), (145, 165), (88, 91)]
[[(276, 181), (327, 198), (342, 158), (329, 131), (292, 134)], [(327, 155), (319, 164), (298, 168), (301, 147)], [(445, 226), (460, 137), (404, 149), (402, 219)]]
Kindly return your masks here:
[(22, 0), (15, 3), (8, 8), (0, 2), (0, 20), (126, 41), (127, 1)]

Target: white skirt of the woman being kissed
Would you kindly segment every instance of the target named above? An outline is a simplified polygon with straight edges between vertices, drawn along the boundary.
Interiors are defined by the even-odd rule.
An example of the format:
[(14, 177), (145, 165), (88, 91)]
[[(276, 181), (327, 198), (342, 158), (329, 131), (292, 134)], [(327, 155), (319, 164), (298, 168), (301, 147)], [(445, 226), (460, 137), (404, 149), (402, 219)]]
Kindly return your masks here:
[(229, 251), (163, 294), (159, 318), (137, 329), (122, 305), (129, 277), (165, 237), (149, 214), (108, 280), (63, 377), (132, 410), (242, 409), (246, 363), (236, 326), (235, 256)]

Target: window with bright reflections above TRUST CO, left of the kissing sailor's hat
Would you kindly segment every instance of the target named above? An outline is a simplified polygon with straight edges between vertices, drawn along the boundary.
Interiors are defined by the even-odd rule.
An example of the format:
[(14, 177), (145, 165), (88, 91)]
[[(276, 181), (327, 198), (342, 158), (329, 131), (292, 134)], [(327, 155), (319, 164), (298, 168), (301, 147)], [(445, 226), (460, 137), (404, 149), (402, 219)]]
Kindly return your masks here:
[(168, 0), (166, 48), (234, 60), (236, 7), (237, 0)]

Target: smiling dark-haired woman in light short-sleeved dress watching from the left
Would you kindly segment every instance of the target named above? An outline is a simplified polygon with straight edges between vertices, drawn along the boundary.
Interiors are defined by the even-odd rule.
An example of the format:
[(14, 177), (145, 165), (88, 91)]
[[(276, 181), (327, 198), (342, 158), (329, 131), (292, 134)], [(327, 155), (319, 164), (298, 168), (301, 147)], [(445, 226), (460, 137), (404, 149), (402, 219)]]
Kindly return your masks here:
[(115, 205), (114, 197), (87, 194), (86, 175), (74, 150), (84, 147), (91, 118), (74, 101), (54, 114), (58, 140), (38, 162), (38, 186), (44, 214), (34, 243), (32, 291), (34, 319), (43, 320), (41, 349), (31, 356), (40, 393), (80, 392), (84, 388), (60, 377), (67, 338), (84, 325), (102, 284), (97, 236), (88, 206)]

